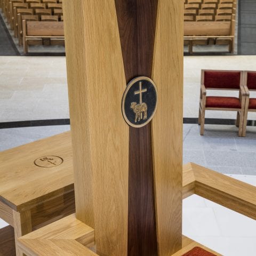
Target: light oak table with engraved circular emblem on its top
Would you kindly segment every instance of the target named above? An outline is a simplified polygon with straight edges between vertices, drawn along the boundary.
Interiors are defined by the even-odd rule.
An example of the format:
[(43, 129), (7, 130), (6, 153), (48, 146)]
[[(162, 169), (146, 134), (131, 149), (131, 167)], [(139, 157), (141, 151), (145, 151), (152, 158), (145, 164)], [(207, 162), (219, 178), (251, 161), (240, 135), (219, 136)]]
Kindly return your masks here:
[(15, 239), (75, 212), (70, 132), (2, 151), (0, 166), (0, 218)]

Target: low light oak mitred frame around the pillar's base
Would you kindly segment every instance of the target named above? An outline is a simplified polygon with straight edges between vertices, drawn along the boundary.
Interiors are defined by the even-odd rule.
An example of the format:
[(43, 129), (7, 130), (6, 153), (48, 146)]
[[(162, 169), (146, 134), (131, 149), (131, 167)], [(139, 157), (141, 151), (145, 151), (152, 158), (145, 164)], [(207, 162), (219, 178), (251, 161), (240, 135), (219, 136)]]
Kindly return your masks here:
[[(193, 194), (256, 219), (256, 187), (189, 163), (183, 166), (183, 198)], [(87, 248), (91, 247), (93, 243), (94, 230), (78, 221), (73, 214), (21, 237), (18, 246), (28, 256), (97, 255)], [(182, 256), (196, 246), (214, 255), (221, 255), (183, 237), (182, 249), (174, 253), (173, 256)]]

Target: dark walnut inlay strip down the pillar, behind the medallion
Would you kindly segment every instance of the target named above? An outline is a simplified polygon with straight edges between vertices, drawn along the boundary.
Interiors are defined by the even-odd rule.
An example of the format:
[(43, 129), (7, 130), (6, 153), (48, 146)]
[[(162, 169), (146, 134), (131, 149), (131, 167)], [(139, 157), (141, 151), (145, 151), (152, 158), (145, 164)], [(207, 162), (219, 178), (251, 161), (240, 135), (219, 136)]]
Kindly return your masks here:
[[(151, 77), (157, 2), (115, 0), (127, 83)], [(130, 127), (128, 225), (128, 255), (157, 256), (150, 123)]]

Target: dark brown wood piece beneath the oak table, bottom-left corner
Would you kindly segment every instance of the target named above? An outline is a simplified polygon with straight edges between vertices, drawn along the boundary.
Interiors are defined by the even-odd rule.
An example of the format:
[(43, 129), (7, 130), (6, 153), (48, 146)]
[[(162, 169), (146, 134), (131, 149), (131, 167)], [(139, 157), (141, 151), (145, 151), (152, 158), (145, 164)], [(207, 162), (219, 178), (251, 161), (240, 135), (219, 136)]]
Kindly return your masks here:
[(15, 256), (14, 229), (7, 226), (0, 229), (0, 255)]

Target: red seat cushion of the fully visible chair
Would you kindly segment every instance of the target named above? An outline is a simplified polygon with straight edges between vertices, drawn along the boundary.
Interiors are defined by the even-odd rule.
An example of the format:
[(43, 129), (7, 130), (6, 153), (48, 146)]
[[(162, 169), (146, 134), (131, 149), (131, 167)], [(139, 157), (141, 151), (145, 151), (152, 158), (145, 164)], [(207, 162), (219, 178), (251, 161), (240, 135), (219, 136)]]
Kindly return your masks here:
[(240, 100), (236, 97), (206, 97), (206, 108), (241, 108)]

